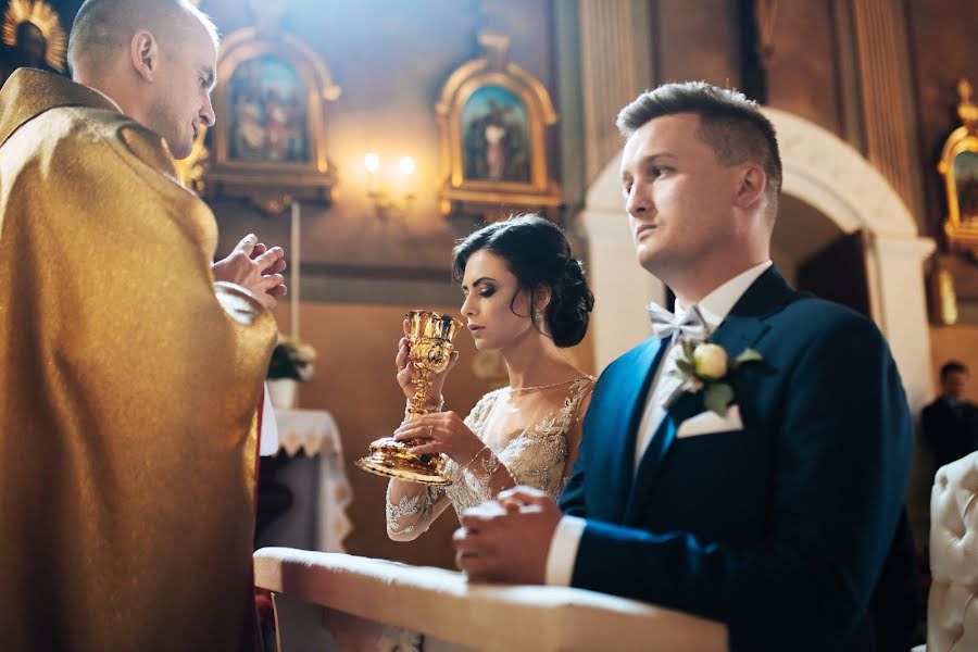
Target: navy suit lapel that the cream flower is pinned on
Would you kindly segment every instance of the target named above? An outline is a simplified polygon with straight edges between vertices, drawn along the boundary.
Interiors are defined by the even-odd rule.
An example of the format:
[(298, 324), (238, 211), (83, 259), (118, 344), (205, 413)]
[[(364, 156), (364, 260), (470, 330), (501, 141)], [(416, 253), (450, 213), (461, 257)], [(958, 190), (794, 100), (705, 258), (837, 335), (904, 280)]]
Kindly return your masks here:
[[(797, 293), (788, 286), (777, 269), (768, 268), (738, 300), (727, 317), (710, 336), (710, 341), (722, 346), (731, 358), (736, 358), (744, 349), (753, 347), (764, 336), (768, 329), (765, 318), (794, 296)], [(627, 518), (625, 523), (637, 523), (642, 507), (652, 494), (660, 469), (668, 463), (667, 455), (676, 440), (676, 431), (684, 421), (699, 414), (702, 410), (702, 392), (695, 394), (684, 392), (666, 411), (649, 447), (642, 454), (635, 482), (628, 493), (624, 512)], [(632, 426), (631, 449), (627, 450), (635, 450), (635, 429), (637, 427), (636, 423)]]

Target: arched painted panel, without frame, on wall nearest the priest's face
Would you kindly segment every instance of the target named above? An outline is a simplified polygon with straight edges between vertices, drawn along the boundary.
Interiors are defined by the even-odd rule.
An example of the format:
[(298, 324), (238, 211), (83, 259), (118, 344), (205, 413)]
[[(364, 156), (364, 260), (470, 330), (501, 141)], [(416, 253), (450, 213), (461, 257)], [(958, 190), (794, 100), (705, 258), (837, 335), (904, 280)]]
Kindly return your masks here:
[(309, 161), (302, 79), (274, 55), (246, 61), (230, 79), (229, 160)]

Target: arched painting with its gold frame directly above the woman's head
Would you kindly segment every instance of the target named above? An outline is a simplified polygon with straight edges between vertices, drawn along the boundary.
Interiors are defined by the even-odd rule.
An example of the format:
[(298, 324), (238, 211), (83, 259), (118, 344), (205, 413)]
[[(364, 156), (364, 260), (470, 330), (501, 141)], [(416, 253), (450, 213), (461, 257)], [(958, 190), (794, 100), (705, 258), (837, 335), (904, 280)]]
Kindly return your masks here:
[(442, 215), (504, 217), (514, 209), (556, 221), (563, 202), (547, 163), (547, 127), (557, 121), (547, 88), (506, 61), (509, 37), (478, 35), (484, 55), (448, 78), (435, 105), (441, 131)]

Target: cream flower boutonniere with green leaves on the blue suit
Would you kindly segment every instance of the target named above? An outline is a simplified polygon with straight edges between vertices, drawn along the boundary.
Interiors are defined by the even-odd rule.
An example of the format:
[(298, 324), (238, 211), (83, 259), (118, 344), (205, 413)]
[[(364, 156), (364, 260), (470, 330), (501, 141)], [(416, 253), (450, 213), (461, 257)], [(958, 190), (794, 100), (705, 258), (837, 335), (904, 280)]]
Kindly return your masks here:
[(726, 415), (727, 406), (734, 402), (732, 372), (743, 364), (764, 360), (755, 349), (744, 349), (731, 361), (726, 349), (710, 341), (684, 339), (681, 347), (677, 368), (672, 372), (682, 379), (679, 389), (692, 393), (702, 390), (703, 405), (717, 416)]

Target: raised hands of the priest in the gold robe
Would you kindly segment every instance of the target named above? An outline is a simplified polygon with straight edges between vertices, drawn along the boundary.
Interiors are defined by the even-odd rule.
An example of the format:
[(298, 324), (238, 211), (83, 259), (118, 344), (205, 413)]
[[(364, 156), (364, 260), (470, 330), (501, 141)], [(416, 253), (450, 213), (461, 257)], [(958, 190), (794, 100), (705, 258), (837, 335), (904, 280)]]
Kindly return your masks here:
[(277, 305), (276, 297), (284, 297), (287, 288), (281, 273), (286, 268), (281, 247), (268, 248), (258, 236), (248, 234), (234, 251), (211, 266), (214, 280), (224, 280), (252, 292), (267, 310)]

